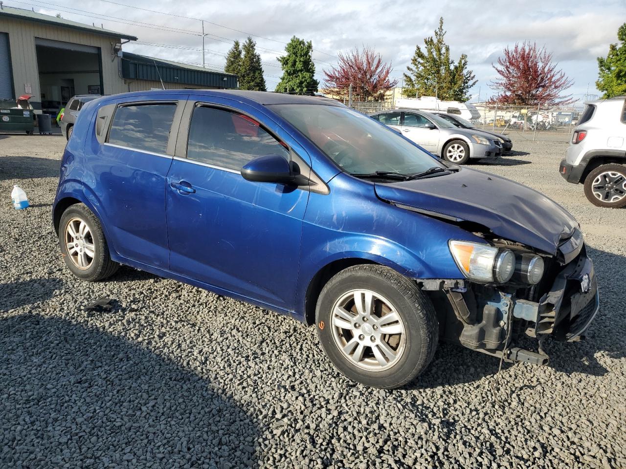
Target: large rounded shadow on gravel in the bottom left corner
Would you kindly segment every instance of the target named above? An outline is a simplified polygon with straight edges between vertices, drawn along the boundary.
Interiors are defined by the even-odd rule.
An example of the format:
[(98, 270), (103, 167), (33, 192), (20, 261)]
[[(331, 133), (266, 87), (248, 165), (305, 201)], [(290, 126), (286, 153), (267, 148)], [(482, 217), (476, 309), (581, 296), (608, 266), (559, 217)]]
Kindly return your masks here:
[(0, 466), (255, 465), (255, 423), (167, 357), (39, 315), (0, 321), (0, 356)]

